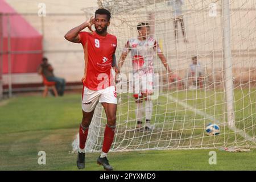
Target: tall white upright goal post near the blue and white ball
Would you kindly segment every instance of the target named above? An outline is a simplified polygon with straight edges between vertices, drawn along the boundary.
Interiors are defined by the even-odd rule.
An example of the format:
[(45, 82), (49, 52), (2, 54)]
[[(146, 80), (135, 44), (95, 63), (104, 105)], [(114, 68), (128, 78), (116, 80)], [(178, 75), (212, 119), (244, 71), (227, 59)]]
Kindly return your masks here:
[(232, 80), (232, 54), (230, 45), (230, 11), (229, 0), (222, 0), (222, 27), (223, 27), (223, 52), (225, 69), (225, 97), (226, 113), (229, 127), (234, 127), (234, 105), (233, 105), (233, 80)]

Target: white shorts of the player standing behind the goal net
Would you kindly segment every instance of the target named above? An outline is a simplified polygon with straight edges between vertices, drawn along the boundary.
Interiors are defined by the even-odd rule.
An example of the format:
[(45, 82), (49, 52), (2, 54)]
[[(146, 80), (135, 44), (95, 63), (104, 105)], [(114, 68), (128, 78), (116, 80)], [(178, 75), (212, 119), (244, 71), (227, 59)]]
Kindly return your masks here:
[(135, 73), (134, 74), (134, 93), (152, 94), (154, 93), (154, 74), (152, 73)]

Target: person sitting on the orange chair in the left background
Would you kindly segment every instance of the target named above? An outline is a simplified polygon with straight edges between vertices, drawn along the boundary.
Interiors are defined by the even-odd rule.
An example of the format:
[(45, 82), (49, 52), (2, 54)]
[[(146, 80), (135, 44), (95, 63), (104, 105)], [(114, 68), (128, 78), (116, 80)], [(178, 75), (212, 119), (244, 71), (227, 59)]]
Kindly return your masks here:
[(55, 77), (53, 75), (52, 65), (48, 63), (48, 59), (43, 57), (43, 63), (40, 64), (38, 68), (38, 73), (46, 77), (47, 81), (56, 82), (56, 89), (59, 96), (63, 96), (65, 90), (65, 80), (64, 78)]

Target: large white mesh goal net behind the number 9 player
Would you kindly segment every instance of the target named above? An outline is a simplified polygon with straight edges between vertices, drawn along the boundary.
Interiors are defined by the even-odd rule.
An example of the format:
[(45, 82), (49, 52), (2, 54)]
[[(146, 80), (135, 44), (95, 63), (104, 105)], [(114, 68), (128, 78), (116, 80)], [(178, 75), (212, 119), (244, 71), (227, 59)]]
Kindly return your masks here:
[[(137, 104), (129, 90), (133, 66), (128, 53), (117, 85), (117, 125), (111, 150), (255, 147), (256, 1), (177, 1), (98, 1), (112, 13), (108, 30), (117, 36), (117, 60), (127, 40), (138, 36), (137, 24), (147, 22), (172, 75), (179, 77), (169, 82), (155, 53), (158, 89), (152, 100), (152, 131), (138, 131)], [(142, 121), (144, 125), (144, 115)], [(220, 126), (219, 135), (206, 134), (209, 123)], [(98, 105), (87, 151), (101, 150), (105, 125), (104, 109)]]

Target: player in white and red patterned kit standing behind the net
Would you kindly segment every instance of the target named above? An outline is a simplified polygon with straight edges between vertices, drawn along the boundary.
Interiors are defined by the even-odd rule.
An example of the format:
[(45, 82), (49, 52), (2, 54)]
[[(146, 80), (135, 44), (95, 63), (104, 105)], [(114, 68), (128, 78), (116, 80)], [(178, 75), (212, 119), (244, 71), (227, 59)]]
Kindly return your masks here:
[[(150, 125), (150, 119), (152, 116), (152, 100), (150, 95), (153, 94), (154, 88), (154, 55), (158, 55), (162, 61), (164, 67), (167, 70), (168, 79), (170, 82), (177, 80), (174, 75), (171, 75), (171, 69), (168, 67), (166, 57), (164, 57), (158, 42), (155, 38), (149, 36), (150, 26), (148, 23), (139, 23), (137, 25), (138, 37), (131, 38), (125, 44), (122, 55), (118, 61), (118, 67), (121, 69), (126, 56), (131, 52), (132, 64), (133, 64), (133, 78), (135, 80), (135, 87), (139, 87), (139, 91), (135, 89), (135, 103), (137, 104), (137, 110), (135, 115), (137, 119), (138, 131), (152, 131)], [(138, 89), (137, 89), (138, 90)], [(143, 100), (145, 101), (145, 107), (143, 107)], [(143, 111), (146, 113), (146, 122), (143, 127), (142, 117)]]

